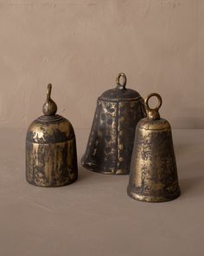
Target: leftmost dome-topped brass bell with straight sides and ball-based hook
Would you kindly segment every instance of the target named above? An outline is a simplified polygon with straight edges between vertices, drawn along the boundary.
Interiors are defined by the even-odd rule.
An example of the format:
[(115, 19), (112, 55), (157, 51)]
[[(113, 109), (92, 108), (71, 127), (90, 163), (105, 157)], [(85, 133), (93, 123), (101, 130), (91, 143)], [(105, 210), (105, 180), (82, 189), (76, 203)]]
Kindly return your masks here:
[(29, 126), (26, 138), (26, 179), (39, 187), (61, 187), (77, 180), (76, 141), (72, 124), (55, 115), (48, 84), (44, 115)]

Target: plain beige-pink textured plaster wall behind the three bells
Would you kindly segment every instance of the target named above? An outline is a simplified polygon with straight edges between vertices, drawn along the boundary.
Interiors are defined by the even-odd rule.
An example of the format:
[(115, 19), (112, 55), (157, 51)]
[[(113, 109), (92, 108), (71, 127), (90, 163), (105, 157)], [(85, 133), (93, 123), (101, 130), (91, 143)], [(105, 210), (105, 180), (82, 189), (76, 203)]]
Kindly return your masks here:
[(201, 0), (0, 0), (0, 127), (41, 115), (52, 82), (58, 113), (89, 128), (123, 71), (174, 128), (204, 128), (203, 14)]

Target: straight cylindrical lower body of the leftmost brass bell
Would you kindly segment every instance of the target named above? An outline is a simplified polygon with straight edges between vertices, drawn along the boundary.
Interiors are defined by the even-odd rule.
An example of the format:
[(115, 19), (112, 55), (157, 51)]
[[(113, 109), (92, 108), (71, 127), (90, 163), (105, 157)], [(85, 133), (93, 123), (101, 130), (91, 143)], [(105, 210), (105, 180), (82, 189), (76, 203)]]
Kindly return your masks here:
[(39, 144), (26, 142), (26, 180), (36, 187), (62, 187), (77, 180), (75, 138)]

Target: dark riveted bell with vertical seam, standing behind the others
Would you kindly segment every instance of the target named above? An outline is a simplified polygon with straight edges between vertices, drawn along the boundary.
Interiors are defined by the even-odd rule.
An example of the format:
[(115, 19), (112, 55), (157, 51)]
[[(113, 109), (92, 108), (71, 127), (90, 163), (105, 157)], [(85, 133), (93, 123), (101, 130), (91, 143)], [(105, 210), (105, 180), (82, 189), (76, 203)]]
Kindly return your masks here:
[[(122, 83), (120, 80), (123, 79)], [(126, 89), (120, 73), (115, 89), (99, 96), (82, 166), (103, 174), (129, 174), (137, 122), (146, 115), (143, 98)]]

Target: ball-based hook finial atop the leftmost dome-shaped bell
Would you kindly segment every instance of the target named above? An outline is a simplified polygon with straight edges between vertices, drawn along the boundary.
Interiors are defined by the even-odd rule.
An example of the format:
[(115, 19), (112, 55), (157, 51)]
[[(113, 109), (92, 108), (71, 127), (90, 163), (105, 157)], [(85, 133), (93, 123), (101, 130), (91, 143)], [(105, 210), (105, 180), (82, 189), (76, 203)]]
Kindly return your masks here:
[(44, 105), (42, 106), (42, 112), (44, 115), (55, 115), (57, 112), (57, 105), (56, 103), (51, 99), (51, 90), (52, 90), (52, 84), (48, 84), (47, 89), (47, 99)]

